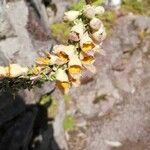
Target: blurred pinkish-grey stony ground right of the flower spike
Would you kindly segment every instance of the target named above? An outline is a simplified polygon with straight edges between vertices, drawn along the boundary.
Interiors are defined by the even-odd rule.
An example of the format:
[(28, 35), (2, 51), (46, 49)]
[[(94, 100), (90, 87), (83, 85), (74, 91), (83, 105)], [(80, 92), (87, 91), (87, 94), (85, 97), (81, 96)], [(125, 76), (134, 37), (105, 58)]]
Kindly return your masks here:
[(118, 19), (103, 44), (106, 55), (97, 57), (94, 80), (72, 90), (87, 129), (80, 142), (70, 138), (71, 150), (150, 149), (149, 21)]

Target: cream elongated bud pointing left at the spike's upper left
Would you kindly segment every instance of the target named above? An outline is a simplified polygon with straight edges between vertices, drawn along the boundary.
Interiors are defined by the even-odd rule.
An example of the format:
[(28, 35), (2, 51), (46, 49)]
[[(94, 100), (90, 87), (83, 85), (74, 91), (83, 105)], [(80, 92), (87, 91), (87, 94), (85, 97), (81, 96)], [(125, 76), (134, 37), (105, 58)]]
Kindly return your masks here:
[(74, 21), (80, 15), (79, 11), (70, 10), (65, 12), (64, 20), (65, 21)]

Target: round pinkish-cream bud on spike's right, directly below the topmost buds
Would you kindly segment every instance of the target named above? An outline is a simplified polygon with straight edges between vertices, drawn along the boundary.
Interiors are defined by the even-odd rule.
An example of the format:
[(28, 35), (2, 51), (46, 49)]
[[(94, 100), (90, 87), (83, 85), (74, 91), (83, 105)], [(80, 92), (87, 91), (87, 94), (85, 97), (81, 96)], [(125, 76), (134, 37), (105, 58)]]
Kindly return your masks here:
[(90, 21), (90, 27), (93, 29), (93, 30), (99, 30), (100, 27), (103, 26), (103, 23), (98, 19), (98, 18), (93, 18), (91, 21)]

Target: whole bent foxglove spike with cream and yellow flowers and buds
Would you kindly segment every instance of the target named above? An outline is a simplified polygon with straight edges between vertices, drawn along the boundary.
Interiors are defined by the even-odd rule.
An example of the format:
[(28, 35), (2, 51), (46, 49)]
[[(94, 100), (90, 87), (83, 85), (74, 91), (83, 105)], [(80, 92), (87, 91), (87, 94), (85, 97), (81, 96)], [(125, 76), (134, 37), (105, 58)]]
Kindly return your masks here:
[(104, 13), (102, 6), (86, 5), (80, 11), (65, 12), (64, 21), (70, 22), (67, 45), (55, 45), (51, 52), (35, 60), (31, 68), (19, 64), (0, 66), (0, 90), (18, 91), (40, 86), (45, 81), (55, 81), (63, 93), (71, 86), (79, 86), (85, 69), (95, 73), (95, 54), (100, 52), (106, 37), (102, 21), (98, 18)]

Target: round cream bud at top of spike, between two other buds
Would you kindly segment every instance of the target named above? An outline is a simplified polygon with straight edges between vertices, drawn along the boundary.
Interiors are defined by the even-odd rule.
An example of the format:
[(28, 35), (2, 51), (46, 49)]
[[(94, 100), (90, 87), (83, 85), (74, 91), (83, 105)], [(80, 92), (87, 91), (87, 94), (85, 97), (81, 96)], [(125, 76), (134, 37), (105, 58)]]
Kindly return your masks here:
[(87, 18), (91, 19), (95, 17), (96, 14), (95, 7), (91, 5), (86, 5), (83, 9), (83, 13)]

